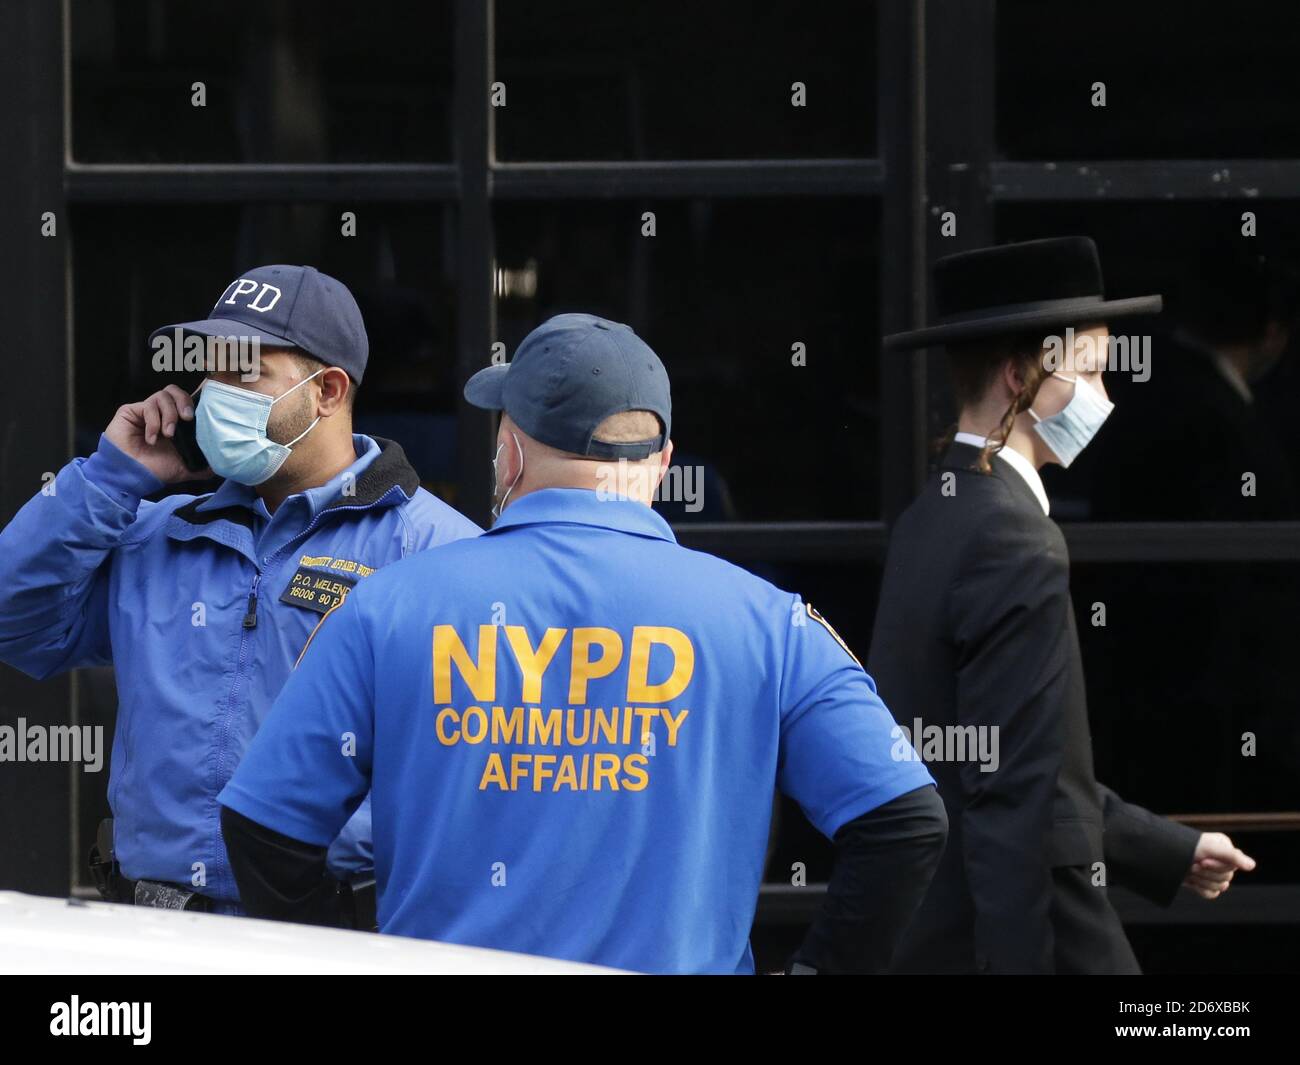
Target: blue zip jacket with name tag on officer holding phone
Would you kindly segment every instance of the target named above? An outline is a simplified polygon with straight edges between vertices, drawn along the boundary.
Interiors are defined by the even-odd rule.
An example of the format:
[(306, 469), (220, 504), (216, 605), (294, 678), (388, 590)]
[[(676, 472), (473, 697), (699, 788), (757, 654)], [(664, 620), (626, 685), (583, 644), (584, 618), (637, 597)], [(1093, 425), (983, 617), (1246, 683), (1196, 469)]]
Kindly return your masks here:
[[(0, 532), (0, 661), (34, 677), (116, 667), (114, 850), (133, 880), (190, 886), (237, 909), (217, 793), (324, 614), (380, 567), (480, 529), (420, 488), (391, 441), (274, 515), (235, 481), (162, 488), (101, 437)], [(372, 862), (368, 805), (330, 871)]]

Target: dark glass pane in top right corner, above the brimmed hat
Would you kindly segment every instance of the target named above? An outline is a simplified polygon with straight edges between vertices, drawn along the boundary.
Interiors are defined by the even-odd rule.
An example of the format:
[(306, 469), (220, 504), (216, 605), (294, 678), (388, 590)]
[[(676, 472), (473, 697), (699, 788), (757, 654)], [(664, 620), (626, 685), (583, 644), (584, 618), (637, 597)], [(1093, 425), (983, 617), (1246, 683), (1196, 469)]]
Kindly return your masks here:
[(1273, 0), (998, 0), (997, 144), (1010, 159), (1297, 156), (1297, 35), (1300, 8)]

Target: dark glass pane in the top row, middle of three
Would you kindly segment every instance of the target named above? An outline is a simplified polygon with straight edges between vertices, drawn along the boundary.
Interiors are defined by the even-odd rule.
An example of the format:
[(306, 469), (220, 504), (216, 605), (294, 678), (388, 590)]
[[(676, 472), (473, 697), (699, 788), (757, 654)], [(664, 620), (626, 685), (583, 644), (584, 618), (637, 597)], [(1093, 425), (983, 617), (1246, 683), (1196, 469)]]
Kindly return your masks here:
[(875, 21), (824, 0), (498, 0), (497, 156), (875, 155)]

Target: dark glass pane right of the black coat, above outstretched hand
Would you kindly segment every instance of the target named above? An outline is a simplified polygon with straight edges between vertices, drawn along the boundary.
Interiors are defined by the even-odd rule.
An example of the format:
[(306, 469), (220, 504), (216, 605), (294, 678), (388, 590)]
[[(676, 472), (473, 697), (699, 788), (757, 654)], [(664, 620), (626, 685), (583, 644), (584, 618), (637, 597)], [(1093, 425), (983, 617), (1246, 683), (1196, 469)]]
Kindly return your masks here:
[[(1300, 564), (1075, 563), (1071, 583), (1097, 779), (1165, 814), (1296, 809)], [(1251, 843), (1258, 879), (1300, 875), (1294, 837)]]

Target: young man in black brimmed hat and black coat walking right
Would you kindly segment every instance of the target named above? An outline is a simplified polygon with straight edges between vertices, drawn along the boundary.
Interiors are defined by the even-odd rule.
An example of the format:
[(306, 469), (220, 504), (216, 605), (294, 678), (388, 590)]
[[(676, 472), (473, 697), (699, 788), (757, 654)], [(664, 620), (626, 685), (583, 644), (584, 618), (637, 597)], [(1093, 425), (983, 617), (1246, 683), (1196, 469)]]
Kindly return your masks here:
[(1095, 780), (1069, 557), (1037, 471), (1069, 466), (1110, 411), (1108, 324), (1161, 299), (1105, 299), (1092, 241), (1070, 237), (941, 259), (935, 300), (939, 324), (885, 347), (948, 347), (957, 432), (892, 536), (868, 668), (950, 836), (892, 967), (1138, 973), (1108, 883), (1167, 905), (1254, 862)]

